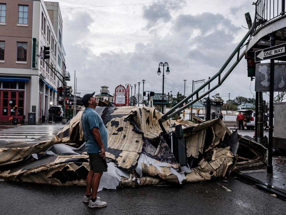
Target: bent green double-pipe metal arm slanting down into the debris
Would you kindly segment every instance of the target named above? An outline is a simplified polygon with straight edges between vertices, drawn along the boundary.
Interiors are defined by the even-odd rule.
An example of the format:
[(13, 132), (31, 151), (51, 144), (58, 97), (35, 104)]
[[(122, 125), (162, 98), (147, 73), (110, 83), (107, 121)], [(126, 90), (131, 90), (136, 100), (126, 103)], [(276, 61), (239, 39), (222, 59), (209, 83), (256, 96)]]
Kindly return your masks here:
[[(243, 53), (238, 57), (237, 56), (237, 60), (234, 62), (234, 64), (229, 68), (229, 70), (226, 72), (226, 74), (223, 76), (223, 78), (220, 78), (221, 73), (223, 72), (223, 70), (226, 68), (226, 66), (229, 64), (229, 62), (231, 61), (231, 59), (236, 55), (239, 55), (240, 52), (240, 48), (243, 46), (243, 43), (246, 41), (246, 39), (250, 36), (251, 32), (252, 32), (252, 28), (253, 26), (248, 30), (248, 32), (245, 34), (245, 36), (243, 37), (243, 39), (240, 41), (240, 43), (237, 45), (237, 47), (234, 49), (234, 51), (231, 53), (231, 55), (229, 56), (229, 58), (226, 60), (226, 62), (223, 64), (223, 66), (220, 68), (220, 70), (214, 75), (212, 76), (208, 81), (206, 81), (203, 85), (201, 85), (197, 90), (195, 90), (193, 93), (191, 93), (189, 96), (186, 96), (185, 99), (183, 99), (181, 102), (179, 102), (177, 105), (175, 105), (173, 108), (171, 108), (169, 111), (167, 111), (165, 114), (163, 114), (158, 122), (159, 125), (162, 129), (163, 132), (166, 132), (164, 126), (163, 126), (163, 122), (165, 122), (166, 120), (170, 119), (172, 116), (175, 116), (177, 113), (180, 113), (182, 110), (188, 108), (190, 105), (194, 104), (195, 102), (199, 101), (200, 99), (202, 99), (204, 96), (206, 96), (207, 94), (211, 93), (213, 90), (215, 90), (217, 87), (219, 87), (227, 78), (227, 76), (229, 76), (229, 74), (231, 73), (231, 71), (234, 69), (234, 67), (236, 67), (236, 65), (240, 62), (240, 60), (245, 56), (245, 50), (243, 51)], [(203, 93), (202, 95), (199, 96), (199, 92), (200, 90), (202, 90), (204, 87), (206, 87), (207, 85), (209, 85), (209, 83), (211, 83), (214, 79), (216, 79), (218, 77), (218, 84), (215, 85), (214, 87), (212, 87), (211, 89), (209, 89), (208, 91), (206, 91), (205, 93)], [(190, 98), (192, 98), (193, 96), (196, 96), (196, 98), (194, 100), (192, 100), (191, 102), (189, 102), (188, 100)], [(185, 102), (189, 102), (187, 103), (185, 106), (179, 108), (178, 110), (176, 110), (178, 107), (180, 107), (181, 105), (183, 105)]]

